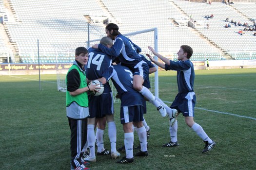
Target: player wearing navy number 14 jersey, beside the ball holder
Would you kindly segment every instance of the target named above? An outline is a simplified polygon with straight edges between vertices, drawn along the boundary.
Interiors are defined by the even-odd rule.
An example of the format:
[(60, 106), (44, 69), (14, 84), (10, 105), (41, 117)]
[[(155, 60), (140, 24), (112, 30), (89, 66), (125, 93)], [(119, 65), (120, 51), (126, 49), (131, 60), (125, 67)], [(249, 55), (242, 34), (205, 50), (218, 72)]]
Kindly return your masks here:
[[(100, 44), (110, 48), (113, 45), (111, 38), (105, 36), (101, 38)], [(102, 77), (102, 73), (108, 69), (112, 63), (111, 57), (107, 54), (99, 51), (98, 49), (89, 48), (89, 59), (86, 68), (86, 77), (88, 80), (96, 80)], [(112, 158), (117, 158), (120, 156), (120, 153), (116, 150), (117, 142), (117, 128), (114, 121), (114, 103), (113, 95), (109, 83), (104, 84), (104, 91), (99, 96), (89, 96), (89, 112), (90, 116), (88, 117), (88, 146), (90, 148), (90, 155), (85, 157), (85, 161), (96, 161), (95, 156), (95, 119), (104, 119), (107, 120), (108, 124), (108, 135), (111, 143), (111, 156)], [(99, 120), (99, 122), (102, 122)], [(97, 142), (98, 142), (98, 151), (97, 155), (108, 155), (110, 152), (104, 149), (103, 135), (104, 135), (105, 124), (99, 124), (97, 128)]]

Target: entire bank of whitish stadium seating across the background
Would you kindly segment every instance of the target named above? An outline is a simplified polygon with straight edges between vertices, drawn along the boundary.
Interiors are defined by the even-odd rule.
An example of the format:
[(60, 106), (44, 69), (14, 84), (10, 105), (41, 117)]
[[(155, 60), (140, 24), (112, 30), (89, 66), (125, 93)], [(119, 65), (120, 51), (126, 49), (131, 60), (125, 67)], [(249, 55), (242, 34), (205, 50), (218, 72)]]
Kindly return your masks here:
[[(2, 0), (0, 9), (7, 10)], [(158, 51), (173, 60), (182, 44), (193, 47), (192, 60), (253, 59), (254, 32), (238, 34), (245, 27), (225, 24), (240, 21), (253, 25), (256, 4), (207, 3), (184, 0), (5, 0), (12, 9), (3, 23), (10, 43), (17, 46), (21, 63), (65, 63), (73, 60), (78, 46), (105, 36), (103, 20), (118, 24), (122, 34), (158, 28)], [(205, 16), (214, 15), (206, 19)], [(226, 18), (229, 22), (225, 22)], [(192, 22), (188, 22), (191, 20)], [(196, 21), (196, 22), (195, 22)], [(88, 24), (89, 23), (89, 24)], [(192, 27), (188, 27), (188, 23)], [(206, 29), (206, 24), (209, 28)], [(191, 25), (190, 25), (191, 26)], [(1, 37), (1, 36), (0, 36)], [(146, 40), (145, 40), (146, 41)], [(4, 43), (0, 38), (1, 48)], [(136, 43), (136, 42), (135, 42)], [(1, 49), (0, 49), (1, 51)]]

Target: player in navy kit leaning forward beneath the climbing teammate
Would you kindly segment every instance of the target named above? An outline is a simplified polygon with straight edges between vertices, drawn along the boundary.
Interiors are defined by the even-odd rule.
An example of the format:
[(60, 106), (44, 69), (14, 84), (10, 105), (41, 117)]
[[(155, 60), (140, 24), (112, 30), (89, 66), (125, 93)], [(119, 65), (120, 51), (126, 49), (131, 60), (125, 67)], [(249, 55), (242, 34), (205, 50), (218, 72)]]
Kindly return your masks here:
[[(133, 124), (137, 127), (138, 137), (140, 141), (140, 151), (135, 156), (148, 156), (147, 151), (147, 135), (146, 128), (143, 126), (144, 98), (133, 88), (132, 71), (121, 65), (113, 65), (112, 72), (106, 76), (103, 75), (105, 81), (111, 80), (115, 85), (121, 100), (120, 120), (124, 130), (124, 146), (126, 156), (118, 160), (117, 163), (132, 163), (134, 133)], [(110, 69), (109, 69), (110, 70)], [(104, 82), (104, 80), (102, 80)]]

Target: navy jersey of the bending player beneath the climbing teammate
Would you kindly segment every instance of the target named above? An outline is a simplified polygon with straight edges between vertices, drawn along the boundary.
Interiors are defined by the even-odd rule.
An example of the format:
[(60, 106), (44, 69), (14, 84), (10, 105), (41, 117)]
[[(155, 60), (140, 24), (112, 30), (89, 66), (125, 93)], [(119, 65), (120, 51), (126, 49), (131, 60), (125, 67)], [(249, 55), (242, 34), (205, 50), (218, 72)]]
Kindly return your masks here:
[(107, 80), (111, 78), (120, 96), (121, 106), (143, 105), (143, 96), (133, 88), (132, 71), (121, 65), (112, 65), (111, 68), (103, 77)]

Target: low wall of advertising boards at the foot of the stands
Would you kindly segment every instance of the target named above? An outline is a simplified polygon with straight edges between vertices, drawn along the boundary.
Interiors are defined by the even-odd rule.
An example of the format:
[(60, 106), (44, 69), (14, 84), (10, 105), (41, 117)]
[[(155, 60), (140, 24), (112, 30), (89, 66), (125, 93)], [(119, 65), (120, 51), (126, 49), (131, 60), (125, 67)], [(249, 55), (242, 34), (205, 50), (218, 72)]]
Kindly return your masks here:
[[(205, 69), (204, 61), (192, 61), (195, 69)], [(209, 61), (211, 69), (256, 68), (256, 60), (218, 60)], [(0, 75), (56, 74), (56, 69), (68, 70), (71, 64), (0, 64)]]

